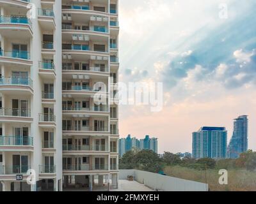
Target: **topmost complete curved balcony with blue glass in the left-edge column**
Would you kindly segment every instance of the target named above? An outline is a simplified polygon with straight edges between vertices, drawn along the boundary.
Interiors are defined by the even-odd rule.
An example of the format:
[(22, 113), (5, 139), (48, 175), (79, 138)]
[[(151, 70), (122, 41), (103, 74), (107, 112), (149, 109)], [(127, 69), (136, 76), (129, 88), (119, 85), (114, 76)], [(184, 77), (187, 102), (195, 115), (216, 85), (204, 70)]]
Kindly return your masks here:
[[(15, 30), (15, 32), (13, 32)], [(33, 36), (31, 21), (28, 17), (0, 16), (0, 34), (8, 38), (28, 40)]]

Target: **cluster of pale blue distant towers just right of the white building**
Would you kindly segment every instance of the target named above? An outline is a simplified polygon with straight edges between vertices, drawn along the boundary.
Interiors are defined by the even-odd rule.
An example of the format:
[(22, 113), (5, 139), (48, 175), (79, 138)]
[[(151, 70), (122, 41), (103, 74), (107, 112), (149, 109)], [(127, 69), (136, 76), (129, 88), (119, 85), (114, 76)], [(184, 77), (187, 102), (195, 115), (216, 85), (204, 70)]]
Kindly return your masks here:
[(146, 135), (145, 139), (140, 140), (136, 137), (131, 138), (131, 135), (128, 135), (127, 138), (120, 138), (119, 140), (119, 156), (122, 157), (125, 152), (133, 148), (139, 150), (148, 149), (157, 153), (157, 145), (157, 138), (150, 138), (149, 135)]

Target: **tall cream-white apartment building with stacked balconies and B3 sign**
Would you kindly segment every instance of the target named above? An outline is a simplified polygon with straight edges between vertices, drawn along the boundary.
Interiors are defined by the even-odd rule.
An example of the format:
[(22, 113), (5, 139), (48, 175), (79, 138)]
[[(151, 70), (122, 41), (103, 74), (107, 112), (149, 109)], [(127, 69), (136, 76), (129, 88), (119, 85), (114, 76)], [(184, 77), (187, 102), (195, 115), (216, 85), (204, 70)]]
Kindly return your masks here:
[(0, 191), (117, 187), (118, 1), (0, 0), (0, 12)]

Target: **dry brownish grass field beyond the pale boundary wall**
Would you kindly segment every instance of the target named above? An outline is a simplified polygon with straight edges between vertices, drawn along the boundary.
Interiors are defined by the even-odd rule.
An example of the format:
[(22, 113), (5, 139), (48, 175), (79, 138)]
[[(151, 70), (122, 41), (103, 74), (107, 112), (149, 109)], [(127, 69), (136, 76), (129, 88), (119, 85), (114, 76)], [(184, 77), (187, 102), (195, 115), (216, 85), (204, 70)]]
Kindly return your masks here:
[[(181, 166), (166, 166), (164, 173), (171, 177), (205, 183), (205, 171)], [(228, 170), (228, 185), (220, 185), (218, 170), (207, 170), (210, 191), (256, 191), (256, 173), (246, 170)]]

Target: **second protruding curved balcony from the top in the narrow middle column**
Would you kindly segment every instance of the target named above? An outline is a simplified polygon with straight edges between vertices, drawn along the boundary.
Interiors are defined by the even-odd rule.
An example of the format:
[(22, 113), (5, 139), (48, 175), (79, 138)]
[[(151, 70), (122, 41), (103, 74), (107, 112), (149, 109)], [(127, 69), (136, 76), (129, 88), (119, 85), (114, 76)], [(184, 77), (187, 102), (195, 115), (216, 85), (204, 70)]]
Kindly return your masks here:
[(55, 65), (53, 62), (39, 62), (39, 75), (42, 78), (56, 78)]

